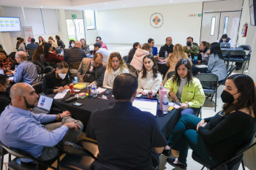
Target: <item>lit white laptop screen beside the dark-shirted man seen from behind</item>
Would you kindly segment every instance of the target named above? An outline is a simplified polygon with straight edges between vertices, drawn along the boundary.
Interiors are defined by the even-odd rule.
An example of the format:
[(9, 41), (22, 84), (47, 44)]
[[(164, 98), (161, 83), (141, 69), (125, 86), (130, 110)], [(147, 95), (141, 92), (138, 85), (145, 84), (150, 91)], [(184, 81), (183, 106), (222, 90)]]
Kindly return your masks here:
[(132, 102), (133, 107), (137, 107), (141, 111), (151, 112), (152, 115), (157, 115), (157, 100), (148, 98), (135, 98)]

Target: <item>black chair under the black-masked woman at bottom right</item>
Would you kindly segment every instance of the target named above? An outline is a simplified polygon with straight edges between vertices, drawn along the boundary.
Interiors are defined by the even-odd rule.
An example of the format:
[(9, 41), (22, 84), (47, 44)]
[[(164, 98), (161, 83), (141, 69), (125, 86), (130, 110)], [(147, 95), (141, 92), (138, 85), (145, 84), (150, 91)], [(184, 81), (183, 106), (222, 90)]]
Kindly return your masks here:
[[(255, 135), (256, 135), (256, 133), (255, 133)], [(192, 158), (193, 158), (195, 161), (197, 161), (197, 163), (200, 163), (200, 164), (203, 165), (202, 170), (203, 170), (205, 167), (208, 168), (208, 169), (210, 169), (210, 170), (217, 169), (217, 168), (220, 168), (220, 167), (221, 167), (222, 169), (233, 170), (233, 169), (234, 169), (234, 166), (236, 166), (236, 169), (238, 169), (240, 163), (242, 163), (242, 167), (243, 167), (243, 169), (245, 170), (244, 161), (243, 161), (243, 156), (244, 156), (243, 154), (244, 154), (244, 152), (246, 152), (246, 150), (249, 150), (250, 148), (252, 148), (252, 147), (255, 146), (256, 142), (255, 142), (254, 144), (252, 144), (253, 140), (255, 139), (255, 135), (252, 136), (252, 139), (250, 139), (249, 142), (247, 142), (247, 143), (244, 145), (244, 147), (242, 147), (240, 150), (238, 150), (238, 152), (236, 152), (236, 154), (234, 154), (229, 160), (224, 161), (224, 162), (222, 162), (222, 163), (219, 163), (219, 165), (217, 165), (217, 166), (211, 166), (210, 164), (206, 163), (205, 161), (203, 161), (202, 158), (200, 158), (198, 155), (196, 155), (195, 152), (192, 152)], [(251, 144), (252, 144), (252, 145), (251, 145)], [(241, 158), (239, 159), (238, 162), (236, 162), (235, 165), (233, 165), (233, 166), (231, 166), (231, 167), (228, 166), (228, 163), (230, 163), (231, 161), (234, 161), (236, 158), (238, 158), (238, 157), (240, 157), (240, 156), (241, 156)], [(233, 164), (233, 163), (232, 163), (232, 164)]]

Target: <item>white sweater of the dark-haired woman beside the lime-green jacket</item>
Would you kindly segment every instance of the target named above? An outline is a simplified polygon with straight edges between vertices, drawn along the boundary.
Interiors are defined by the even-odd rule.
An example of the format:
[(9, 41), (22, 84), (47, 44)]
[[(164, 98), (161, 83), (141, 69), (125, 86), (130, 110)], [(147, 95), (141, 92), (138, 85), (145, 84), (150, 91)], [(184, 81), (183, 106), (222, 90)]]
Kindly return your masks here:
[(137, 91), (148, 93), (148, 91), (151, 90), (153, 92), (153, 96), (155, 96), (162, 83), (162, 75), (157, 73), (157, 78), (154, 78), (153, 71), (148, 72), (147, 76), (144, 79), (141, 78), (142, 75), (143, 75), (143, 72), (140, 72), (138, 77), (139, 85), (138, 85)]

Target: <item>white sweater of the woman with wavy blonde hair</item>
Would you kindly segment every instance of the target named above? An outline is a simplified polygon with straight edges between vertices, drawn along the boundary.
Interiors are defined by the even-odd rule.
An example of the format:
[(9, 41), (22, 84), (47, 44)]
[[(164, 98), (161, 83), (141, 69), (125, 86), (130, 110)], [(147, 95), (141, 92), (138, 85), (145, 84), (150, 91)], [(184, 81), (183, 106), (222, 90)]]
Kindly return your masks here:
[(129, 73), (129, 70), (124, 68), (123, 72), (120, 72), (120, 67), (116, 70), (116, 72), (113, 70), (113, 68), (111, 69), (110, 72), (106, 70), (104, 75), (104, 80), (103, 80), (103, 88), (113, 88), (113, 84), (116, 76), (123, 73)]

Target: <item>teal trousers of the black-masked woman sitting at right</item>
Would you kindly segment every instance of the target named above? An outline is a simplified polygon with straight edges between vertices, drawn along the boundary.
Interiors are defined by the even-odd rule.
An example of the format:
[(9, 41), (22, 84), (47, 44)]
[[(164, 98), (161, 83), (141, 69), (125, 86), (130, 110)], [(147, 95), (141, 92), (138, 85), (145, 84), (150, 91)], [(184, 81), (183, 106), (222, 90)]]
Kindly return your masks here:
[(170, 135), (168, 139), (168, 145), (173, 147), (173, 145), (178, 142), (178, 161), (181, 163), (187, 162), (187, 153), (190, 147), (200, 158), (202, 158), (208, 164), (217, 166), (219, 163), (210, 158), (206, 150), (206, 144), (203, 140), (203, 137), (197, 133), (197, 124), (201, 120), (201, 118), (196, 117), (195, 115), (183, 115), (181, 119), (178, 120), (173, 133)]

